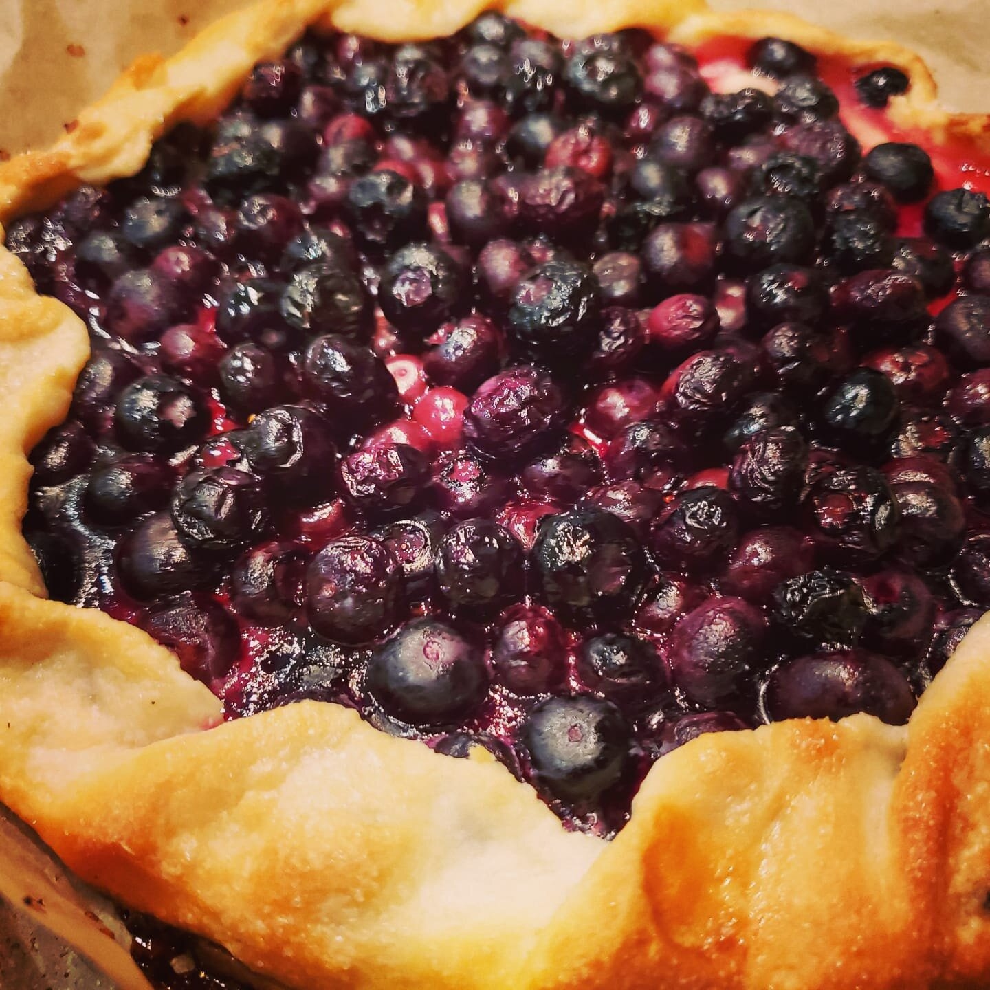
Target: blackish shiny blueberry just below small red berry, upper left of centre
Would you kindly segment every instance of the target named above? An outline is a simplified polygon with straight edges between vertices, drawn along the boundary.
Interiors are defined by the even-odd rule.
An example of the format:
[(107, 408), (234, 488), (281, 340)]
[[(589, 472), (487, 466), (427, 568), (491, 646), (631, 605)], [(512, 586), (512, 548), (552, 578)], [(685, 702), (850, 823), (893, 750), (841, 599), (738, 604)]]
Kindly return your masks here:
[(382, 169), (354, 179), (347, 189), (344, 215), (365, 247), (400, 247), (425, 233), (427, 198), (405, 176)]

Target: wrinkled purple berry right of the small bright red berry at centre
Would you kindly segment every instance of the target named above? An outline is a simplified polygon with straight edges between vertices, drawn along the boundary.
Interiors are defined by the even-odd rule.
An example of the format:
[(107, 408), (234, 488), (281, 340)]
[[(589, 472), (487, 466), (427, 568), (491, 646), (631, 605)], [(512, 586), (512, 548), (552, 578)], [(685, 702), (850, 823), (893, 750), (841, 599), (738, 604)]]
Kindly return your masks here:
[(517, 458), (550, 446), (563, 428), (563, 393), (532, 366), (502, 371), (483, 382), (464, 412), (464, 438), (480, 453)]

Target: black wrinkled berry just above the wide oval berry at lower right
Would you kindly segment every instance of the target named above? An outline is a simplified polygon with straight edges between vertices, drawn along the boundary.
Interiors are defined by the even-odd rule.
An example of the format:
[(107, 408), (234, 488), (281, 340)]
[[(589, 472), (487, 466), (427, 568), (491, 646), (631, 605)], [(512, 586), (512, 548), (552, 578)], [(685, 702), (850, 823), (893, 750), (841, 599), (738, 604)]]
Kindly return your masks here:
[(783, 581), (774, 589), (771, 614), (784, 635), (830, 648), (855, 645), (868, 618), (860, 586), (834, 570)]

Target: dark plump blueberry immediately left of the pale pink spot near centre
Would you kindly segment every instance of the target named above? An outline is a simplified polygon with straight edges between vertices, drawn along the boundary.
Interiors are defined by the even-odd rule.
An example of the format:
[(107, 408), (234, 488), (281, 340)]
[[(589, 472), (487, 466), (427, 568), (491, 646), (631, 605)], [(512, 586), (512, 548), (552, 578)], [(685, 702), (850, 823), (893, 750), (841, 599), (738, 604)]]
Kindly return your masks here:
[[(303, 385), (335, 416), (354, 427), (386, 419), (399, 399), (385, 362), (368, 347), (338, 334), (318, 337), (306, 348)], [(350, 419), (353, 418), (353, 419)]]

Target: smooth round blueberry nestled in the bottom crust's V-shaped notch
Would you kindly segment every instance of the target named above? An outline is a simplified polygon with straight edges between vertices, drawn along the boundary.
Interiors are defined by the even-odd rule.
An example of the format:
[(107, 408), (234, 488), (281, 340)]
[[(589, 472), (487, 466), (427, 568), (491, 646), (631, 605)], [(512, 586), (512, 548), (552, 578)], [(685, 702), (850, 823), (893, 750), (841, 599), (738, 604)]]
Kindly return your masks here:
[(631, 763), (630, 728), (599, 698), (547, 698), (530, 713), (522, 738), (538, 785), (562, 801), (597, 801)]

